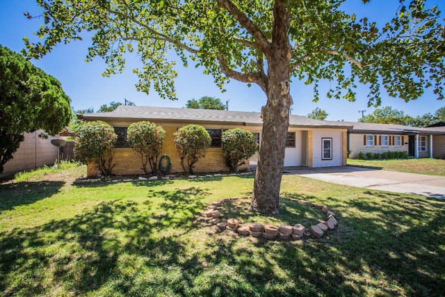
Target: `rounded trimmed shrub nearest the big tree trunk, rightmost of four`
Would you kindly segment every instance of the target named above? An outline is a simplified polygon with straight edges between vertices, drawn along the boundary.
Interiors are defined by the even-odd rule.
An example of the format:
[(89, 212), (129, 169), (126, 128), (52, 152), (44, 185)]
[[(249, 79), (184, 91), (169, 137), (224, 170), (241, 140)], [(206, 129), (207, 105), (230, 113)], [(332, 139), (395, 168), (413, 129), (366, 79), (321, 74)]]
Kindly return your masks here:
[(241, 128), (224, 131), (221, 143), (225, 165), (230, 171), (235, 171), (238, 166), (245, 164), (245, 160), (253, 156), (258, 149), (253, 134)]

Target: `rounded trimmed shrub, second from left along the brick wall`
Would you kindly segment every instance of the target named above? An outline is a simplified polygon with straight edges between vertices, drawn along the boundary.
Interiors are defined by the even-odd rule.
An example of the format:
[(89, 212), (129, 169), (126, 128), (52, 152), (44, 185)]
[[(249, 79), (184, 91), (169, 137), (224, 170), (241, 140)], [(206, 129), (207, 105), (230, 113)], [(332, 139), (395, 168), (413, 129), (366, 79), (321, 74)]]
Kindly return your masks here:
[[(127, 129), (127, 142), (140, 153), (145, 174), (156, 174), (158, 158), (161, 154), (165, 131), (162, 127), (148, 121), (133, 122)], [(149, 164), (151, 172), (147, 168)]]

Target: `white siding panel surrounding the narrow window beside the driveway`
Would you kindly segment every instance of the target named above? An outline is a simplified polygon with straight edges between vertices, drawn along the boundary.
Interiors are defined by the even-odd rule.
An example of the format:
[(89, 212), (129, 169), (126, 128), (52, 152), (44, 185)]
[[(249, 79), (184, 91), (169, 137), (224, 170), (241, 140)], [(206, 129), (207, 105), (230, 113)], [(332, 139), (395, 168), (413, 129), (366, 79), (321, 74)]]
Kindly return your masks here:
[[(343, 150), (340, 129), (314, 129), (312, 134), (313, 167), (342, 166)], [(322, 160), (322, 138), (332, 138), (332, 160)]]

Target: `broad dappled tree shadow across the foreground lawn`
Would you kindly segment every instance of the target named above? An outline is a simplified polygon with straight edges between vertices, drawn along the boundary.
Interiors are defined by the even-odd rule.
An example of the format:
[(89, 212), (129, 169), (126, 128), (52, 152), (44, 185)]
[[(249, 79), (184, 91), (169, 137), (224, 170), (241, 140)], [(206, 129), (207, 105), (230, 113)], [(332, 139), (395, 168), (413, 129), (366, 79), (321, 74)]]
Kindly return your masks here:
[[(71, 220), (1, 232), (0, 291), (4, 296), (441, 296), (445, 291), (445, 231), (439, 227), (445, 223), (444, 202), (371, 191), (355, 199), (328, 198), (339, 218), (329, 239), (265, 241), (194, 223), (205, 195), (195, 187), (149, 189), (144, 202), (113, 200)], [(312, 213), (293, 205), (282, 203), (284, 215)]]

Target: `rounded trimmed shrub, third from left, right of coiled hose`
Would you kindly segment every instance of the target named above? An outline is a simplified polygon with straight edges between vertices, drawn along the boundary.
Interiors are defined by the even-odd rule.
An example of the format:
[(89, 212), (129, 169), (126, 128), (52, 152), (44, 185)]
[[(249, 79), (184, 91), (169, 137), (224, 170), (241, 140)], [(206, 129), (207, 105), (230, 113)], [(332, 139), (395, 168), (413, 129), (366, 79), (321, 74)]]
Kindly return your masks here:
[(187, 125), (178, 129), (175, 133), (175, 147), (185, 172), (193, 174), (195, 163), (205, 156), (204, 152), (210, 144), (209, 132), (200, 125)]

